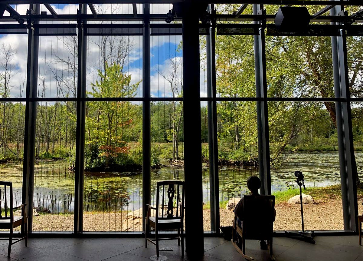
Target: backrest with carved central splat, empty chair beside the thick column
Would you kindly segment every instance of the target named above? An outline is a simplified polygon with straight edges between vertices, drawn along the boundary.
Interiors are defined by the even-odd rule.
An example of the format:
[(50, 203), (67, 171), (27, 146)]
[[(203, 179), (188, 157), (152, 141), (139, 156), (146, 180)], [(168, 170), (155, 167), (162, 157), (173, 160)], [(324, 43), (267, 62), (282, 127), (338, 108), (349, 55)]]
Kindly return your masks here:
[(159, 181), (156, 187), (156, 220), (181, 218), (183, 221), (185, 182)]

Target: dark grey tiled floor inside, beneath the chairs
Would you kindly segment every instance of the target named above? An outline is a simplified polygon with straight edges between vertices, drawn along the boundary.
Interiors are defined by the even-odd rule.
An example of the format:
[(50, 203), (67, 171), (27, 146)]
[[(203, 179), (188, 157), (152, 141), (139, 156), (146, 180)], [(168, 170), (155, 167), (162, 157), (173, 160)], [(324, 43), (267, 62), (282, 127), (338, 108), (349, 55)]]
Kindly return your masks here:
[[(316, 244), (295, 239), (275, 237), (274, 256), (276, 260), (339, 260), (363, 261), (363, 247), (358, 244), (358, 236), (315, 237)], [(6, 257), (7, 241), (0, 241), (0, 261), (147, 261), (156, 254), (155, 246), (145, 248), (143, 238), (30, 238), (27, 248), (21, 241), (13, 245), (11, 258)], [(171, 247), (173, 251), (160, 252), (168, 260), (191, 260), (176, 240), (161, 241), (160, 248)], [(223, 238), (204, 239), (203, 261), (245, 260), (237, 253), (231, 242)], [(246, 254), (255, 260), (270, 260), (267, 251), (260, 249), (258, 241), (246, 241)], [(189, 255), (191, 255), (189, 253)], [(195, 260), (195, 259), (193, 259)]]

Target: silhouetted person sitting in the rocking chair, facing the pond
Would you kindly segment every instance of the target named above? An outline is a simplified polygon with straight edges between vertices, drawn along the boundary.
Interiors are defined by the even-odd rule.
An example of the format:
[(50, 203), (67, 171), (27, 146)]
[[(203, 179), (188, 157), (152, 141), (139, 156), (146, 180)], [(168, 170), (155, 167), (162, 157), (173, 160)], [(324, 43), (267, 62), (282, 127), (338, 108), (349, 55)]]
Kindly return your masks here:
[[(261, 188), (261, 180), (256, 175), (252, 175), (248, 177), (247, 179), (247, 188), (250, 190), (252, 195), (259, 195), (258, 189)], [(234, 208), (234, 215), (236, 216), (238, 226), (241, 226), (241, 220), (243, 216), (248, 215), (248, 213), (243, 213), (243, 207), (244, 207), (244, 197), (241, 198), (240, 202), (237, 203), (237, 205)], [(263, 206), (264, 208), (272, 208), (271, 201), (267, 200), (266, 204)], [(270, 212), (271, 213), (271, 212)], [(274, 216), (276, 216), (276, 210), (274, 210)], [(267, 249), (267, 244), (265, 240), (260, 240), (260, 246), (262, 250)]]

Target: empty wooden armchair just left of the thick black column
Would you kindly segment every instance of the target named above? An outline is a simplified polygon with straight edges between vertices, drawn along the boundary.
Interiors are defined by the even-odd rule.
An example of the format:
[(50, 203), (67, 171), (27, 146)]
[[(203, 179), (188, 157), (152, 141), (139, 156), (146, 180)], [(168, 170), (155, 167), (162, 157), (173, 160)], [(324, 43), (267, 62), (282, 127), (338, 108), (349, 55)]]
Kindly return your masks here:
[[(151, 205), (147, 205), (148, 209), (145, 217), (145, 248), (147, 248), (147, 241), (156, 245), (157, 257), (159, 257), (159, 240), (173, 239), (178, 240), (178, 245), (181, 242), (181, 256), (184, 256), (184, 184), (184, 181), (174, 180), (158, 182), (156, 185), (156, 206), (161, 206), (161, 208), (154, 208)], [(165, 207), (167, 207), (166, 210), (164, 210)], [(151, 214), (152, 210), (155, 210), (155, 217)], [(155, 238), (148, 238), (150, 233), (149, 226), (155, 229)], [(160, 230), (170, 229), (177, 229), (178, 236), (159, 238)]]

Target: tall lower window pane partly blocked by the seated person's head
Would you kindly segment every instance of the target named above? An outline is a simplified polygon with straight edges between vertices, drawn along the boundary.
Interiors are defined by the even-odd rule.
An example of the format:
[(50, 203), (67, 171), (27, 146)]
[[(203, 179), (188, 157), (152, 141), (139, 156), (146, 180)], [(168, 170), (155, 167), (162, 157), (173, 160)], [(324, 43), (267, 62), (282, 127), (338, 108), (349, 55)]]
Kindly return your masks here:
[(220, 224), (231, 226), (234, 205), (249, 193), (247, 178), (258, 175), (256, 102), (217, 103), (217, 124)]

